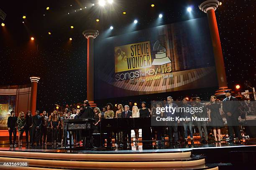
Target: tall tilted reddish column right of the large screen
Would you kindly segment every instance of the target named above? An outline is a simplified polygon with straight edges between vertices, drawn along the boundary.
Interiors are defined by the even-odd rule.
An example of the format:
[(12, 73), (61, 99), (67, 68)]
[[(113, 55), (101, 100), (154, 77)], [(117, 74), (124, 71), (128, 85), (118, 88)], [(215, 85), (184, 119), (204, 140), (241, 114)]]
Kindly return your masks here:
[(202, 10), (204, 13), (207, 13), (219, 84), (219, 89), (215, 92), (215, 96), (218, 97), (220, 97), (221, 95), (225, 95), (224, 91), (228, 89), (224, 60), (220, 44), (220, 36), (215, 17), (215, 10), (219, 5), (220, 2), (218, 0), (207, 0), (199, 5), (199, 9)]

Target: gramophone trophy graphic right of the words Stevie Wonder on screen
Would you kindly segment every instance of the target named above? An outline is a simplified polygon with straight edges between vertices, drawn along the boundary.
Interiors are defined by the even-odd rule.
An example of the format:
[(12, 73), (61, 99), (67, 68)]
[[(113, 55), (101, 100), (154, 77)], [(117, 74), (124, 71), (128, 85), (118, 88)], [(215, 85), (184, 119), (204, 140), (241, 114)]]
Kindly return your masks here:
[(154, 61), (152, 62), (152, 65), (164, 65), (167, 64), (169, 62), (172, 62), (169, 57), (166, 56), (166, 48), (163, 47), (159, 40), (157, 40), (154, 44), (153, 47), (154, 51), (156, 52), (156, 58), (154, 59)]

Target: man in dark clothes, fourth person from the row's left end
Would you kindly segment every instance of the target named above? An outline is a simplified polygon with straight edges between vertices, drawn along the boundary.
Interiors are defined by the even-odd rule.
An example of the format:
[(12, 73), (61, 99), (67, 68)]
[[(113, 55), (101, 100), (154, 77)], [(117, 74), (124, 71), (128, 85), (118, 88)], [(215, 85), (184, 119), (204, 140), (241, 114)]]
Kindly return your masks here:
[(36, 110), (36, 115), (32, 117), (32, 143), (30, 144), (33, 146), (36, 140), (36, 145), (39, 146), (39, 138), (40, 138), (40, 128), (42, 125), (41, 116), (39, 116), (39, 111)]

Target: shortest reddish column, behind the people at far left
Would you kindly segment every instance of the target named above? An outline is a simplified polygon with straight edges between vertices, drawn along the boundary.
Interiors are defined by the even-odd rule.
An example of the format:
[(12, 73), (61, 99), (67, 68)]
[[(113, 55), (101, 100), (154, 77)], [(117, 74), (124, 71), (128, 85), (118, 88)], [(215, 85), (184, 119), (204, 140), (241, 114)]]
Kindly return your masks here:
[(35, 115), (36, 112), (36, 93), (37, 93), (37, 83), (40, 77), (31, 76), (31, 98), (30, 98), (30, 111), (32, 115)]

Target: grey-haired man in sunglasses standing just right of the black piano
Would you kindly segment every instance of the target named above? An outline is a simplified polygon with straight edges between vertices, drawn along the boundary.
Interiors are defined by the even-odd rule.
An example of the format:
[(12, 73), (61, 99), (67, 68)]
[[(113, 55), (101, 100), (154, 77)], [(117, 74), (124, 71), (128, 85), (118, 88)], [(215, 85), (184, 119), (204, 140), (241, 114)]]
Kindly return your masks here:
[[(173, 102), (172, 97), (171, 96), (167, 97), (167, 103), (168, 104), (165, 105), (165, 107), (166, 106), (167, 107), (173, 107), (173, 108), (177, 107), (177, 109), (178, 109), (178, 106), (176, 104), (172, 103), (172, 102)], [(174, 121), (167, 122), (168, 134), (169, 134), (169, 143), (172, 143), (172, 136), (174, 134), (174, 143), (179, 144), (178, 143), (178, 140), (179, 140), (179, 137), (178, 137), (178, 123), (179, 123), (179, 121), (175, 120), (176, 117), (178, 117), (178, 116), (179, 116), (179, 114), (178, 114), (177, 110), (174, 110), (174, 112), (172, 112), (172, 110), (171, 110), (171, 112), (166, 112), (166, 117), (173, 117), (174, 118)]]

